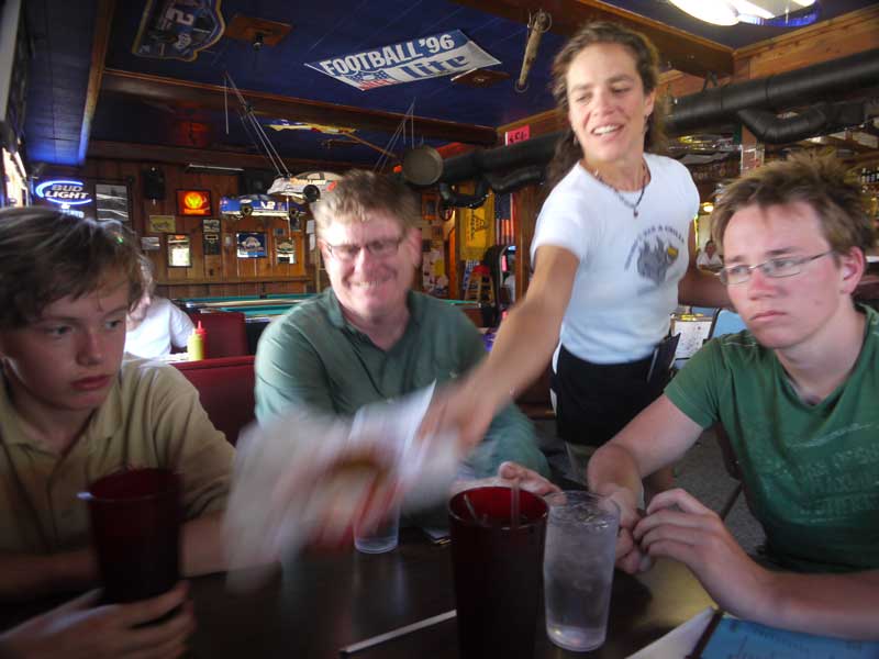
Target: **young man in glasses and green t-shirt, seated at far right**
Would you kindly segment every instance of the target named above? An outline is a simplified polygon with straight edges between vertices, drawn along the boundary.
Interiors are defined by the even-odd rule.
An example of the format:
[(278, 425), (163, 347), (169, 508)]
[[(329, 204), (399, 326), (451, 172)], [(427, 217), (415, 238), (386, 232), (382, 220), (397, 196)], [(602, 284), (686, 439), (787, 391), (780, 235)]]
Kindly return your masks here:
[[(741, 617), (879, 638), (879, 316), (852, 293), (872, 244), (860, 190), (832, 158), (791, 157), (723, 193), (721, 279), (747, 331), (700, 350), (596, 453), (589, 485), (623, 511), (617, 566), (687, 563)], [(768, 570), (682, 490), (637, 511), (641, 479), (720, 422), (763, 524)]]

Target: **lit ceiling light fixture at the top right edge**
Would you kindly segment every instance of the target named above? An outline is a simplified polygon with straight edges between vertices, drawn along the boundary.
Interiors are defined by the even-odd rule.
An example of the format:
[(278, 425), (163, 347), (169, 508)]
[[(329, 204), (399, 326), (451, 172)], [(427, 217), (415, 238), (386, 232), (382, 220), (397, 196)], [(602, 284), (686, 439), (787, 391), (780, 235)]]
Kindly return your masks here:
[(775, 27), (802, 27), (821, 14), (817, 0), (669, 0), (693, 18), (713, 25), (750, 23)]

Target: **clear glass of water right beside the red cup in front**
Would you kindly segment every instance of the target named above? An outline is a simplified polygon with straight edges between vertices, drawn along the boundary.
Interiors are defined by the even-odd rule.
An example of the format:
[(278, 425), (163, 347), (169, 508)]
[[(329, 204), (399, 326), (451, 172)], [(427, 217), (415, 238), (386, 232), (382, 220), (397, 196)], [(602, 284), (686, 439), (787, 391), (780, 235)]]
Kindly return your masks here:
[(559, 492), (546, 502), (546, 634), (567, 650), (593, 650), (608, 629), (620, 507), (589, 492)]

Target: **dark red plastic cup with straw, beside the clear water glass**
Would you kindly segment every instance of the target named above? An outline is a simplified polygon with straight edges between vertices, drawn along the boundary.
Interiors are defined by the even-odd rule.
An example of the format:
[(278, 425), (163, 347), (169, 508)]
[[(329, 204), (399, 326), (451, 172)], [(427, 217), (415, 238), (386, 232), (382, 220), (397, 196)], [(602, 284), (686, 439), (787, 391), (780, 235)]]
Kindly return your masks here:
[(532, 659), (541, 606), (546, 502), (510, 488), (476, 488), (448, 503), (463, 659)]

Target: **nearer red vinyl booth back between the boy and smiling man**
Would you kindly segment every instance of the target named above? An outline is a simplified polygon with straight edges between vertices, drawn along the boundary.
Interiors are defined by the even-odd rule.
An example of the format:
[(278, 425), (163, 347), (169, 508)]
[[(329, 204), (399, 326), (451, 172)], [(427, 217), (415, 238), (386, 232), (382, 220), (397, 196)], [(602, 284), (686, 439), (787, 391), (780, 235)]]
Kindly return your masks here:
[(199, 390), (213, 425), (234, 445), (238, 431), (254, 420), (254, 356), (173, 364)]

